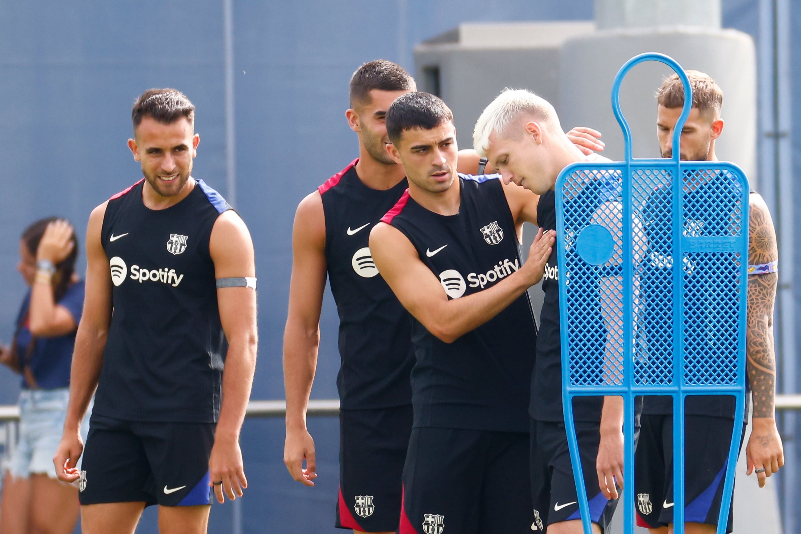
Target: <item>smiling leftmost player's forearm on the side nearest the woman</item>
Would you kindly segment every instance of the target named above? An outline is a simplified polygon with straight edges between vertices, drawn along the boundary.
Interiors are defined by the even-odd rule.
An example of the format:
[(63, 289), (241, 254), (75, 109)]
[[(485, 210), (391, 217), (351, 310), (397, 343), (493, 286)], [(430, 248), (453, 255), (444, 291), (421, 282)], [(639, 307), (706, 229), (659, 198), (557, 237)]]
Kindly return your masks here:
[(103, 368), (107, 335), (107, 331), (93, 332), (78, 327), (70, 366), (70, 404), (64, 419), (65, 429), (77, 430), (87, 413)]

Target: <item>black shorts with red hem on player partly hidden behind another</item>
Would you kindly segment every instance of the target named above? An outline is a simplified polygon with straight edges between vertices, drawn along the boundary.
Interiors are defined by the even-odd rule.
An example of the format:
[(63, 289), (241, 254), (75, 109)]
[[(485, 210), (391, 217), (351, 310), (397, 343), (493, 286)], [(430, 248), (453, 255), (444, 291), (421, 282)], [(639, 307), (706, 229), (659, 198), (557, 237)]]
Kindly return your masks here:
[(412, 432), (412, 405), (340, 411), (340, 495), (336, 527), (395, 532), (400, 475)]

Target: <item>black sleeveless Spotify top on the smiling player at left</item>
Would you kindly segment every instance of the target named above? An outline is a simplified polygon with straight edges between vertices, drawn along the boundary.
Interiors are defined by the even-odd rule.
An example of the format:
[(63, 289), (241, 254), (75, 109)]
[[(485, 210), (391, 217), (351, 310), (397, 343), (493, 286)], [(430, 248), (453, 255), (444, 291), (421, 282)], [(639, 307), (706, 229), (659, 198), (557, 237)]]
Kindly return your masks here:
[(103, 219), (114, 311), (94, 413), (214, 423), (227, 342), (209, 241), (231, 207), (197, 180), (179, 203), (151, 210), (143, 183), (111, 197)]

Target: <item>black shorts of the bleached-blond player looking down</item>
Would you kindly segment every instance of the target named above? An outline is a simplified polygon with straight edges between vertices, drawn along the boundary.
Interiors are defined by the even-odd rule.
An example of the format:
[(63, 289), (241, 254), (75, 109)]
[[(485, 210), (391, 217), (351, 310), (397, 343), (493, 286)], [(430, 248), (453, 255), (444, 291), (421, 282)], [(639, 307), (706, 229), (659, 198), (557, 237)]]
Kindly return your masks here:
[[(578, 451), (590, 504), (590, 518), (606, 532), (618, 500), (606, 500), (598, 488), (595, 461), (601, 441), (600, 425), (576, 421)], [(549, 524), (580, 520), (578, 492), (570, 462), (564, 423), (531, 420), (531, 495), (534, 522), (531, 530), (545, 532)]]

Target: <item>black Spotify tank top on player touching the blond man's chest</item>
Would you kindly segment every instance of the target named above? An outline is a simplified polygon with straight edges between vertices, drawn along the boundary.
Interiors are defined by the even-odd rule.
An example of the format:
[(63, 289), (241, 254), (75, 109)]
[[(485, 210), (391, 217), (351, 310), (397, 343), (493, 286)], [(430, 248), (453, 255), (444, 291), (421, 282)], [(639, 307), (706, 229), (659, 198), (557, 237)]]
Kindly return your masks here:
[[(438, 215), (407, 191), (381, 219), (409, 239), (449, 299), (489, 289), (522, 264), (499, 175), (459, 175), (457, 215)], [(526, 408), (537, 327), (523, 293), (493, 319), (445, 343), (413, 319), (415, 427), (529, 432)]]

